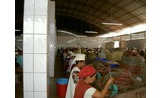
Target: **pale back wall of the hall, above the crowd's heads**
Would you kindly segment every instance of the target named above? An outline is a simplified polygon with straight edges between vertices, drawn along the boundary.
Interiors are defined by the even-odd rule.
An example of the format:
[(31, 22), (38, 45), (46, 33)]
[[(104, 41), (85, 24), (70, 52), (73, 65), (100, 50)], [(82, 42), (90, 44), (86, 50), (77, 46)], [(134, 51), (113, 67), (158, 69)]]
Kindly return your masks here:
[[(70, 43), (68, 44), (67, 41), (71, 40), (71, 39), (75, 39), (77, 37), (74, 36), (57, 36), (57, 45), (58, 47), (105, 47), (105, 48), (113, 48), (114, 47), (114, 43), (110, 42), (110, 43), (98, 43), (98, 41), (94, 41), (97, 40), (98, 38), (96, 37), (85, 37), (85, 38), (80, 38), (81, 40), (77, 40), (74, 43)], [(21, 40), (23, 39), (22, 36), (16, 36), (16, 41), (15, 41), (15, 45), (18, 47), (22, 47), (22, 41), (17, 41), (17, 40)], [(92, 41), (91, 41), (92, 40)], [(87, 43), (84, 43), (84, 42)], [(81, 43), (81, 45), (79, 45), (79, 43)], [(132, 48), (132, 47), (136, 47), (139, 49), (145, 49), (146, 48), (146, 39), (139, 39), (139, 40), (129, 40), (129, 41), (121, 41), (120, 46), (122, 48), (128, 47), (128, 48)]]

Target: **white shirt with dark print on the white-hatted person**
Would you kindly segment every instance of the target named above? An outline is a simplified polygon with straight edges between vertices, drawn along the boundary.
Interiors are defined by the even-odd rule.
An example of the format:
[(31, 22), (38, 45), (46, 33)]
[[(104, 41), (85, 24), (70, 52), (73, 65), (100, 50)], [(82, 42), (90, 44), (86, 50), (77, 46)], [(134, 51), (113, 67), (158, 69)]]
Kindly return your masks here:
[(73, 98), (74, 97), (74, 91), (75, 91), (76, 85), (79, 81), (79, 77), (78, 77), (79, 71), (80, 71), (80, 69), (78, 67), (74, 67), (72, 69), (71, 74), (69, 76), (69, 82), (68, 82), (65, 98)]

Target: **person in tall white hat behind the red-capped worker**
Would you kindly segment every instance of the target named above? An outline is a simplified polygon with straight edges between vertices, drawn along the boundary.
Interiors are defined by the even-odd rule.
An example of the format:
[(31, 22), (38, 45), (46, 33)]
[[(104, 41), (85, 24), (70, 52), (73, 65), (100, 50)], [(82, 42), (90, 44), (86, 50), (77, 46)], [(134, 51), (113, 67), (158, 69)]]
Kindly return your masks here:
[(76, 65), (71, 69), (65, 98), (73, 98), (74, 96), (75, 87), (79, 81), (78, 73), (85, 65), (85, 54), (77, 54), (73, 62), (76, 62)]

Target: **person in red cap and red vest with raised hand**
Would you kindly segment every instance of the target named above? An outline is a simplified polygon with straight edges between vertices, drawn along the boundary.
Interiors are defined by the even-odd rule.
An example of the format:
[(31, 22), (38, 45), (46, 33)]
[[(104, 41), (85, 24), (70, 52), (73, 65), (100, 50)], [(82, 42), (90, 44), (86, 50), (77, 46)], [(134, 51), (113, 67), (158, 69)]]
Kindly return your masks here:
[(96, 70), (91, 65), (83, 67), (78, 75), (82, 80), (76, 86), (74, 98), (104, 98), (109, 93), (109, 85), (114, 82), (114, 78), (110, 78), (102, 91), (92, 87), (90, 84), (96, 79)]

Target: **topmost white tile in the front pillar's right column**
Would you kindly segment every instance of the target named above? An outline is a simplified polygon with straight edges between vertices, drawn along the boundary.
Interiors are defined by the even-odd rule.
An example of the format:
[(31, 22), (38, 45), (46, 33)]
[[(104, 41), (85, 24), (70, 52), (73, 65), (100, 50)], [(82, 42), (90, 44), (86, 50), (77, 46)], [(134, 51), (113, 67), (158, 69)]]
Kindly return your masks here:
[(35, 0), (35, 14), (47, 15), (48, 0)]

